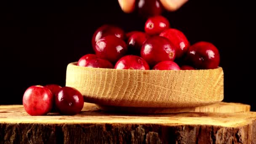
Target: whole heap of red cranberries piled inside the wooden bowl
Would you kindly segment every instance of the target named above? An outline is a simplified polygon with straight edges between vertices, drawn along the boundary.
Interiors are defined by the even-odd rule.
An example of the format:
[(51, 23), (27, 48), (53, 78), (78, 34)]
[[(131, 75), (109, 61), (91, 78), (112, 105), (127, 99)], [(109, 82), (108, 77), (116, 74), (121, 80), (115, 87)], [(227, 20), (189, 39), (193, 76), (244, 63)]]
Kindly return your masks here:
[(208, 42), (190, 45), (178, 29), (170, 28), (168, 19), (152, 16), (145, 32), (125, 33), (120, 27), (103, 25), (92, 37), (95, 54), (86, 54), (78, 66), (109, 69), (192, 70), (215, 69), (219, 51)]

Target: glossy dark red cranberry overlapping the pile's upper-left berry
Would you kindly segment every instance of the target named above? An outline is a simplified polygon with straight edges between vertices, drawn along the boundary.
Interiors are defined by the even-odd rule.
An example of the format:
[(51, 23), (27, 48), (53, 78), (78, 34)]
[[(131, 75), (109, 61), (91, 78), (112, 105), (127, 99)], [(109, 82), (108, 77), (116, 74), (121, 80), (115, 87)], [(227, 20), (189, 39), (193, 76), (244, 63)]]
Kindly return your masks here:
[(118, 61), (127, 51), (126, 43), (114, 35), (108, 35), (96, 43), (96, 56), (112, 63)]

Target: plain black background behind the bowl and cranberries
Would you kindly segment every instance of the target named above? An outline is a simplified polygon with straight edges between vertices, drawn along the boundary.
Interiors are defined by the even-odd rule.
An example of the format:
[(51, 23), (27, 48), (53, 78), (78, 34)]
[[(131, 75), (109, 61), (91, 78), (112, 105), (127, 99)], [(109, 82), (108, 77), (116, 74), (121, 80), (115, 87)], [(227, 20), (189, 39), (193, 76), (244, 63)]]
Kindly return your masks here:
[[(255, 15), (251, 4), (233, 0), (190, 0), (165, 12), (171, 27), (193, 44), (209, 41), (220, 51), (224, 101), (251, 104), (255, 95)], [(121, 11), (117, 0), (23, 1), (0, 4), (0, 104), (22, 104), (31, 85), (65, 85), (67, 64), (92, 53), (91, 37), (102, 24), (128, 32), (144, 19)]]

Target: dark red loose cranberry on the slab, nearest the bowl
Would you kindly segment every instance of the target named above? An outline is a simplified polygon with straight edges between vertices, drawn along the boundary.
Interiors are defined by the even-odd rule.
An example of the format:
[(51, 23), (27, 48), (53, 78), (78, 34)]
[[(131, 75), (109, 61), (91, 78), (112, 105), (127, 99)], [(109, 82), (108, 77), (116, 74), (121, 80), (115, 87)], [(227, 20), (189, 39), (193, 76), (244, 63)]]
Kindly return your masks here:
[(75, 88), (62, 87), (55, 96), (55, 105), (61, 115), (76, 115), (83, 109), (83, 96)]

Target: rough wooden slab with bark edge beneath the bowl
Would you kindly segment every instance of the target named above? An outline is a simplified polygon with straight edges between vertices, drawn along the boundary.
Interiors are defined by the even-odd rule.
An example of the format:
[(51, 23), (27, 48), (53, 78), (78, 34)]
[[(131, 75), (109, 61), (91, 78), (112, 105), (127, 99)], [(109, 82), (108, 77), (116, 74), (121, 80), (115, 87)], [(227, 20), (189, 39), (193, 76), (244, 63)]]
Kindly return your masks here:
[[(243, 108), (235, 108), (239, 106)], [(221, 109), (233, 111), (205, 112)], [(248, 109), (220, 103), (196, 109), (203, 112), (131, 115), (102, 112), (85, 103), (75, 116), (30, 116), (22, 105), (0, 106), (0, 143), (256, 144), (256, 112)]]

